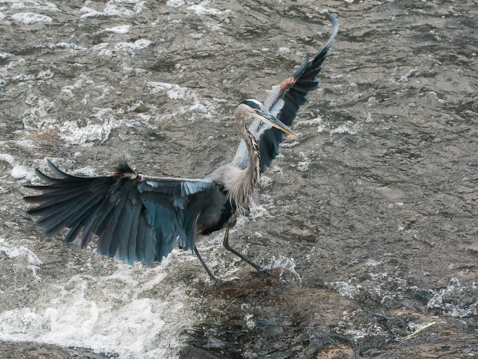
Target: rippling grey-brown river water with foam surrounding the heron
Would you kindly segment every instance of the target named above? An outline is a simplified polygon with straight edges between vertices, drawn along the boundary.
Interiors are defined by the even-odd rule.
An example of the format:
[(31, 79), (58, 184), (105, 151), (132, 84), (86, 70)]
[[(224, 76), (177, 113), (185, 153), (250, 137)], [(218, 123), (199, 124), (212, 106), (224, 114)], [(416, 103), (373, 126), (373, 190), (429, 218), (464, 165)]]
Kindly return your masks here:
[[(46, 238), (45, 159), (203, 177), (235, 106), (339, 33), (230, 243), (126, 265)], [(0, 357), (478, 355), (476, 1), (0, 0)], [(344, 357), (344, 356), (342, 356)]]

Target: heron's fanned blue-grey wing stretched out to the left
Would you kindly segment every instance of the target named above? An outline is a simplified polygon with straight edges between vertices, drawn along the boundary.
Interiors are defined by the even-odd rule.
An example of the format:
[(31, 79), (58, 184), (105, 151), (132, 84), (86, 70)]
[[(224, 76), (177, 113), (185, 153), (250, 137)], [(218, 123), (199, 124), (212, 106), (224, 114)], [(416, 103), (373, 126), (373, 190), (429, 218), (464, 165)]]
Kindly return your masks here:
[(26, 186), (42, 191), (24, 199), (39, 204), (28, 213), (41, 216), (36, 223), (47, 237), (70, 228), (65, 242), (82, 235), (82, 248), (93, 234), (97, 251), (132, 264), (153, 265), (175, 247), (196, 246), (197, 219), (208, 196), (219, 191), (215, 182), (203, 179), (147, 177), (136, 174), (125, 162), (108, 176), (83, 177), (66, 174), (48, 165), (59, 177), (36, 174), (46, 186)]

